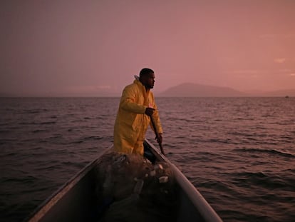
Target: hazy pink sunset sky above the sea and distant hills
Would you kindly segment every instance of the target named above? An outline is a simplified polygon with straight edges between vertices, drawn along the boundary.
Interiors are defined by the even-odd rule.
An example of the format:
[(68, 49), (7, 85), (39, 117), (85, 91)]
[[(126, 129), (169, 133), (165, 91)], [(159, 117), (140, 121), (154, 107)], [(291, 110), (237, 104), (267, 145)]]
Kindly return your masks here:
[(154, 91), (191, 82), (295, 89), (293, 0), (0, 1), (0, 93)]

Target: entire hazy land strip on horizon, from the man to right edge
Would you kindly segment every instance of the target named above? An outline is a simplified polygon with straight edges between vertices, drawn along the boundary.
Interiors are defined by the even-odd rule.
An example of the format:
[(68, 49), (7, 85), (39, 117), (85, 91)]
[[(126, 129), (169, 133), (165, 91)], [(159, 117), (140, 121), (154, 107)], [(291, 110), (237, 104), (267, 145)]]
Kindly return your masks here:
[(286, 89), (280, 91), (268, 92), (242, 92), (236, 89), (222, 86), (208, 86), (202, 84), (184, 83), (177, 86), (172, 86), (169, 89), (157, 93), (157, 96), (162, 97), (285, 97), (295, 96), (295, 89)]

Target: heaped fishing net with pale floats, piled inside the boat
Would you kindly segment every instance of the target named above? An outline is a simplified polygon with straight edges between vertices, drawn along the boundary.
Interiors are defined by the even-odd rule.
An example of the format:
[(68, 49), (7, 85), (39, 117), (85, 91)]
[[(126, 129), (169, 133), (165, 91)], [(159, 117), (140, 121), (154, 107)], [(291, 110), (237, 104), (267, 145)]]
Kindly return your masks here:
[(111, 151), (95, 167), (99, 221), (173, 221), (175, 180), (165, 162)]

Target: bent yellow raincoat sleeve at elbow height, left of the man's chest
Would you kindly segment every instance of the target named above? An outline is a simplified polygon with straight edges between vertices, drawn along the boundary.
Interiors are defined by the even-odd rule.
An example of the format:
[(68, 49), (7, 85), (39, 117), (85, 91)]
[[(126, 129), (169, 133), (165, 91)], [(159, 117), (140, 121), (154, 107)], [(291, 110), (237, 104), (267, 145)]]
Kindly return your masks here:
[(135, 90), (130, 86), (126, 86), (125, 89), (123, 90), (123, 94), (120, 101), (120, 105), (122, 109), (124, 109), (125, 111), (133, 112), (133, 113), (140, 113), (140, 114), (145, 113), (145, 109), (147, 108), (147, 106), (136, 104), (135, 96), (136, 96)]

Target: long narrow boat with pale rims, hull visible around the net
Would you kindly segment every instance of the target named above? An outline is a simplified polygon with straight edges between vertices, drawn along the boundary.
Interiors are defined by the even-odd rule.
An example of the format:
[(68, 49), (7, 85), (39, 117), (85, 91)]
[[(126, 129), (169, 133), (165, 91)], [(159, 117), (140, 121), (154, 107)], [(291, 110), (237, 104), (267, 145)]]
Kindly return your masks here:
[[(145, 140), (145, 149), (152, 158), (165, 161), (172, 168), (177, 186), (175, 189), (177, 202), (179, 202), (175, 221), (222, 221), (195, 186), (148, 140)], [(93, 168), (105, 152), (44, 201), (25, 221), (93, 221), (91, 216), (94, 204)]]

